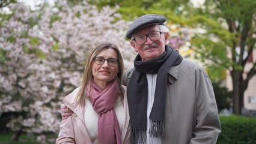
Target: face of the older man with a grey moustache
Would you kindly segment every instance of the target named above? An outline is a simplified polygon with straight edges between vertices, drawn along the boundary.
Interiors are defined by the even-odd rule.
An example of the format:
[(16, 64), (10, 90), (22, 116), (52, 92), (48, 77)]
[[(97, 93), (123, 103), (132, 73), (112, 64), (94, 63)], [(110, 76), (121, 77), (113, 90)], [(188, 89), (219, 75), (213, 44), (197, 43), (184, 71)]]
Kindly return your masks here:
[[(147, 35), (151, 32), (157, 32), (159, 28), (157, 25), (144, 26), (133, 34), (133, 38), (140, 35)], [(137, 44), (135, 41), (131, 41), (130, 44), (133, 46), (136, 52), (142, 58), (142, 61), (148, 61), (153, 58), (157, 58), (165, 52), (165, 45), (167, 44), (168, 33), (161, 34), (161, 38), (156, 41), (151, 41), (149, 37), (144, 44)]]

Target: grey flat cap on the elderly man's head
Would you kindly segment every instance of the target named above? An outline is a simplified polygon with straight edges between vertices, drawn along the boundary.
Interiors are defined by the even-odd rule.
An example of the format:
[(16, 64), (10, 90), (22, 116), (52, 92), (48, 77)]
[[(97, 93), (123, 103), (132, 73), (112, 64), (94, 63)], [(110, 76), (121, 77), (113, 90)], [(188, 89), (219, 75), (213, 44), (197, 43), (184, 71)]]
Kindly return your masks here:
[(129, 29), (126, 32), (127, 38), (132, 38), (132, 34), (136, 32), (139, 28), (145, 25), (163, 25), (166, 21), (166, 18), (160, 14), (145, 14), (144, 16), (136, 19), (132, 25), (130, 25)]

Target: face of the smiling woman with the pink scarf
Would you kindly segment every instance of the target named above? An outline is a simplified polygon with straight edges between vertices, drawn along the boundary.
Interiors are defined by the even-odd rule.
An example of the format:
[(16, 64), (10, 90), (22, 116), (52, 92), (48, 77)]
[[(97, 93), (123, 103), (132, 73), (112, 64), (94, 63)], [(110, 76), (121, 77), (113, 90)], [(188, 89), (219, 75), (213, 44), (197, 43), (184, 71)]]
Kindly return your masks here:
[[(115, 52), (114, 49), (103, 49), (101, 50), (93, 60), (92, 64), (92, 72), (93, 72), (93, 80), (97, 83), (101, 88), (106, 88), (106, 85), (108, 85), (108, 82), (115, 79), (117, 76), (117, 73), (119, 72), (118, 62), (116, 65), (111, 66), (108, 64), (108, 61), (104, 61), (102, 65), (96, 64), (95, 61), (97, 61), (95, 58), (103, 58), (101, 60), (104, 61), (104, 59), (118, 59), (117, 52)], [(109, 61), (110, 63), (110, 61)], [(113, 63), (113, 62), (112, 62)]]

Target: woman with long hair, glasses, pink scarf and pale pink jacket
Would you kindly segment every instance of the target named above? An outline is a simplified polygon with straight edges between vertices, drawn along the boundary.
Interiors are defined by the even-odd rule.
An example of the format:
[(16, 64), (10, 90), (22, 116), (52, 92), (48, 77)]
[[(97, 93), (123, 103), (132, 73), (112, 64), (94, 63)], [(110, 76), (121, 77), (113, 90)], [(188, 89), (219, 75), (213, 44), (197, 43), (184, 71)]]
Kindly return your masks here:
[(73, 114), (62, 120), (56, 143), (129, 143), (123, 73), (123, 58), (114, 44), (99, 44), (90, 53), (81, 86), (63, 100)]

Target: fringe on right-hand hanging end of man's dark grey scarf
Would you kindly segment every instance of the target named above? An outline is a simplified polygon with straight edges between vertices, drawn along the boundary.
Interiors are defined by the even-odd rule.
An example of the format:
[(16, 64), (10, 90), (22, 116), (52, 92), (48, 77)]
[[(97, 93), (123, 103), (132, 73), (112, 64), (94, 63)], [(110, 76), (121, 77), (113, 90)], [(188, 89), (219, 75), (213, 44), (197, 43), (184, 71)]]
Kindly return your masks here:
[(150, 137), (165, 136), (165, 121), (163, 119), (152, 121), (150, 119)]

